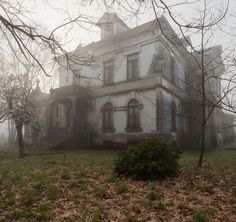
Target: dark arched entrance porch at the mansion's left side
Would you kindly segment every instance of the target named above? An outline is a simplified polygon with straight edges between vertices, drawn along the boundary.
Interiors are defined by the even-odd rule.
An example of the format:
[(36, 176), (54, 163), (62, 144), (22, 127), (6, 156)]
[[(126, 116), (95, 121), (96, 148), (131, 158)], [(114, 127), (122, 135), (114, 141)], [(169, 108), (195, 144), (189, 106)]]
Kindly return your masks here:
[(89, 103), (84, 87), (70, 85), (51, 89), (47, 135), (71, 137), (73, 148), (84, 146), (88, 140)]

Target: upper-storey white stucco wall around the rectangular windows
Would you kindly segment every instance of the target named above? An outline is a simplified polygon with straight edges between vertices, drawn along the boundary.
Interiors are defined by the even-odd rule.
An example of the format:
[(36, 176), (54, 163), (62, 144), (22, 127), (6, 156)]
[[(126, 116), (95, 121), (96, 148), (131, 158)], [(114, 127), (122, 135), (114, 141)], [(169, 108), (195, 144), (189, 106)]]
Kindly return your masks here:
[[(128, 46), (126, 45), (127, 42), (129, 43)], [(127, 55), (132, 53), (139, 54), (140, 78), (149, 74), (154, 74), (154, 71), (151, 71), (150, 73), (150, 66), (153, 62), (154, 55), (160, 54), (161, 51), (163, 51), (163, 60), (165, 64), (163, 76), (167, 80), (171, 81), (170, 58), (171, 56), (175, 57), (175, 82), (179, 88), (184, 89), (184, 66), (181, 62), (181, 58), (179, 58), (179, 55), (177, 53), (174, 54), (173, 49), (164, 46), (159, 39), (145, 41), (145, 38), (143, 41), (138, 38), (133, 38), (120, 44), (114, 43), (114, 45), (104, 46), (103, 49), (97, 48), (91, 54), (91, 56), (94, 57), (94, 61), (90, 66), (79, 67), (76, 65), (75, 69), (79, 70), (79, 75), (81, 76), (80, 81), (77, 81), (77, 83), (86, 87), (101, 87), (103, 85), (103, 63), (110, 60), (114, 61), (113, 82), (119, 83), (122, 81), (127, 81)], [(73, 81), (73, 74), (63, 68), (60, 68), (59, 78), (60, 87), (70, 85)]]

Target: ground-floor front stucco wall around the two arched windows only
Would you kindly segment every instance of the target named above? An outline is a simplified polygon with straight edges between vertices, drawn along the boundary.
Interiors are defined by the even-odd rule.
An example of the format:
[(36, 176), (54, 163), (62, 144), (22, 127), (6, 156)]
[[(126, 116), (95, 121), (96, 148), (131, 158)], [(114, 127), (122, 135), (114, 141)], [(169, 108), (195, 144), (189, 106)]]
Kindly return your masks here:
[(100, 97), (93, 101), (94, 110), (90, 114), (90, 124), (94, 126), (97, 133), (102, 134), (102, 108), (107, 102), (111, 102), (115, 107), (114, 111), (114, 128), (115, 133), (126, 133), (127, 127), (127, 110), (129, 100), (136, 98), (142, 105), (140, 109), (140, 120), (142, 133), (156, 130), (156, 90), (145, 92), (130, 92), (121, 95), (111, 95)]

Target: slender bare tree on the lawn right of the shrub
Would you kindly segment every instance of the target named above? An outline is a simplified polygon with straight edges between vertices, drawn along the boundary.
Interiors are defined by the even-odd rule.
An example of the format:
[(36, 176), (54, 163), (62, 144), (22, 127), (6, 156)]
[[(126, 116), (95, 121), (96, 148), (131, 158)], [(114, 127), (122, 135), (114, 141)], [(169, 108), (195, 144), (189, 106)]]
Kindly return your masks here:
[[(190, 50), (183, 47), (181, 42), (176, 42), (175, 36), (167, 36), (166, 28), (161, 26), (159, 18), (156, 20), (160, 25), (162, 33), (173, 43), (181, 45), (186, 53), (190, 56), (192, 63), (195, 65), (195, 75), (197, 75), (197, 84), (195, 81), (190, 81), (191, 90), (197, 92), (200, 99), (201, 107), (201, 149), (198, 160), (198, 166), (201, 167), (203, 163), (203, 156), (206, 146), (206, 129), (209, 119), (213, 112), (220, 109), (228, 109), (229, 106), (222, 106), (223, 101), (235, 87), (230, 87), (226, 91), (221, 90), (220, 82), (224, 70), (224, 61), (230, 55), (226, 54), (223, 58), (221, 49), (214, 50), (210, 45), (215, 38), (216, 30), (221, 27), (222, 21), (226, 18), (229, 1), (220, 2), (220, 8), (215, 5), (213, 1), (201, 1), (202, 7), (197, 11), (197, 17), (186, 22), (179, 22), (178, 17), (175, 16), (172, 7), (168, 6), (165, 1), (152, 1), (153, 10), (156, 12), (157, 8), (162, 7), (167, 11), (167, 14), (172, 22), (177, 25), (184, 41), (188, 43)], [(157, 14), (156, 14), (157, 15)], [(187, 34), (193, 33), (198, 36), (198, 43), (193, 44), (189, 41)], [(219, 48), (219, 47), (218, 47)], [(193, 79), (190, 79), (193, 80)], [(232, 82), (233, 79), (229, 79)], [(195, 87), (193, 86), (195, 84)]]

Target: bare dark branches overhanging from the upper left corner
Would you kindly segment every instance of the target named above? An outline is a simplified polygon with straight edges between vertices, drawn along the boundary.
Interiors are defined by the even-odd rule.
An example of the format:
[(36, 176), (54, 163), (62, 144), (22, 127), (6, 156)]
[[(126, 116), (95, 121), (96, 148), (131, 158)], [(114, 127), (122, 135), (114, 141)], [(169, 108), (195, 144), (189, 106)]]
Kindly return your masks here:
[[(49, 2), (50, 0), (43, 1), (47, 7), (51, 7)], [(60, 65), (65, 66), (67, 69), (71, 69), (71, 64), (91, 64), (91, 61), (93, 60), (91, 56), (85, 58), (80, 57), (78, 53), (68, 52), (62, 41), (56, 37), (57, 31), (65, 27), (68, 27), (68, 30), (65, 31), (65, 39), (73, 25), (86, 29), (86, 24), (94, 24), (90, 16), (80, 13), (77, 17), (72, 18), (67, 10), (56, 8), (54, 10), (57, 10), (58, 14), (63, 11), (66, 15), (65, 21), (53, 28), (53, 30), (45, 31), (43, 27), (30, 18), (32, 12), (26, 5), (26, 1), (24, 0), (0, 2), (0, 37), (2, 42), (6, 43), (5, 45), (3, 44), (1, 50), (8, 51), (8, 49), (11, 49), (19, 62), (22, 62), (22, 60), (28, 61), (33, 59), (47, 76), (50, 76), (50, 73), (43, 66), (38, 55), (33, 53), (33, 44), (37, 45), (41, 51), (47, 50), (50, 53), (48, 59), (54, 62), (53, 65), (60, 63), (61, 56), (63, 56), (65, 62)], [(66, 41), (65, 39), (64, 42)], [(80, 77), (76, 70), (71, 69), (71, 71), (77, 75), (77, 77)]]

